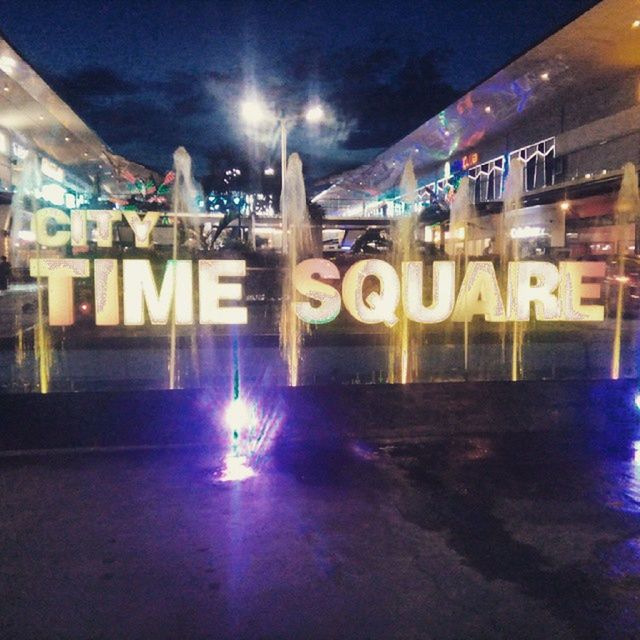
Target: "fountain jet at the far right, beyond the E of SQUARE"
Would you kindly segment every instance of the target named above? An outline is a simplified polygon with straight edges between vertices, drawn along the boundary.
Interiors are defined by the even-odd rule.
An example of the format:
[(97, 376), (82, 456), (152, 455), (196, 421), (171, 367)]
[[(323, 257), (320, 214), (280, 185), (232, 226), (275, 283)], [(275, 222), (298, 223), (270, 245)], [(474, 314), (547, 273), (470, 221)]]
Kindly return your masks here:
[[(631, 242), (629, 229), (640, 218), (640, 190), (638, 174), (633, 163), (624, 165), (620, 192), (615, 206), (615, 224), (618, 229), (618, 275), (616, 281), (618, 292), (616, 297), (616, 323), (613, 333), (613, 349), (611, 355), (611, 378), (620, 377), (620, 348), (622, 344), (622, 316), (624, 314), (625, 260), (627, 247)], [(636, 234), (637, 235), (637, 234)], [(636, 247), (636, 253), (638, 248)]]

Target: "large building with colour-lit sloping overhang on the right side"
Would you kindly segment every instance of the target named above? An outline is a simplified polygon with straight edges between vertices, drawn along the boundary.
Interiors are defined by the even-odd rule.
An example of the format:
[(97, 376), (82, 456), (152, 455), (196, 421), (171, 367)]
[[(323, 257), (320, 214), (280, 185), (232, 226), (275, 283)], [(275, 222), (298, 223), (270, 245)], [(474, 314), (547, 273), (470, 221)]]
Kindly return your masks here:
[[(530, 250), (615, 253), (614, 204), (625, 163), (640, 164), (640, 7), (604, 0), (470, 90), (371, 163), (331, 180), (314, 200), (330, 218), (392, 218), (413, 162), (418, 207), (450, 202), (467, 176), (490, 250), (509, 170), (522, 161), (523, 208), (511, 235)], [(444, 208), (425, 239), (444, 244)], [(633, 234), (630, 236), (633, 238)], [(633, 241), (627, 247), (634, 249)]]

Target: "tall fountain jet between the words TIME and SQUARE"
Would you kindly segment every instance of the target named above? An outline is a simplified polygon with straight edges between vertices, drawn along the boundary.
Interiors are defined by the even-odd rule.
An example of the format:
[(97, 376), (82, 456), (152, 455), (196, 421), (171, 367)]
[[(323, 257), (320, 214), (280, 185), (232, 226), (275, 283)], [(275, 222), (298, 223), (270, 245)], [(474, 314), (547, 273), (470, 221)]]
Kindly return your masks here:
[(302, 323), (295, 312), (293, 271), (298, 262), (313, 253), (302, 161), (297, 153), (291, 154), (287, 162), (280, 211), (285, 263), (280, 308), (280, 351), (287, 363), (288, 383), (295, 387), (299, 382), (302, 340), (309, 332), (309, 326)]

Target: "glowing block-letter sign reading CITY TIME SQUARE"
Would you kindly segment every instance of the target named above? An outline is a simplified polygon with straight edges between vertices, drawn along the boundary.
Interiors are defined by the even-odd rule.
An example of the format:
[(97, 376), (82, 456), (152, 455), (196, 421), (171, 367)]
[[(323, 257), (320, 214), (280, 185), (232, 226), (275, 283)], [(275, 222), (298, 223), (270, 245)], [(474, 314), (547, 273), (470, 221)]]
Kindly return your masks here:
[[(158, 213), (142, 217), (134, 212), (79, 211), (67, 215), (54, 208), (41, 209), (33, 217), (37, 241), (47, 247), (86, 245), (87, 221), (96, 224), (98, 246), (113, 242), (113, 222), (125, 219), (134, 231), (136, 246), (149, 246)], [(195, 266), (195, 269), (194, 269)], [(424, 291), (425, 269), (432, 269), (430, 291)], [(506, 293), (500, 290), (492, 262), (470, 262), (456, 291), (456, 263), (435, 261), (426, 267), (421, 261), (403, 262), (399, 272), (388, 262), (360, 260), (341, 277), (329, 260), (305, 260), (294, 268), (294, 310), (300, 320), (325, 324), (335, 320), (342, 307), (358, 322), (383, 323), (399, 320), (400, 309), (410, 321), (435, 324), (452, 320), (465, 322), (479, 315), (487, 322), (527, 321), (531, 305), (537, 320), (593, 322), (604, 319), (604, 307), (585, 304), (600, 297), (604, 262), (511, 262)], [(91, 277), (86, 258), (42, 258), (30, 261), (34, 277), (48, 284), (49, 322), (65, 326), (74, 322), (74, 280)], [(194, 272), (197, 274), (198, 309), (195, 309)], [(122, 278), (120, 278), (122, 274)], [(159, 286), (150, 260), (96, 259), (93, 261), (95, 321), (100, 326), (139, 326), (148, 316), (151, 324), (167, 324), (174, 314), (179, 325), (235, 324), (248, 322), (242, 306), (246, 276), (244, 260), (169, 260)], [(229, 279), (232, 279), (229, 281)], [(342, 279), (341, 285), (340, 280)], [(425, 296), (427, 302), (425, 302)], [(146, 310), (146, 314), (145, 314)]]

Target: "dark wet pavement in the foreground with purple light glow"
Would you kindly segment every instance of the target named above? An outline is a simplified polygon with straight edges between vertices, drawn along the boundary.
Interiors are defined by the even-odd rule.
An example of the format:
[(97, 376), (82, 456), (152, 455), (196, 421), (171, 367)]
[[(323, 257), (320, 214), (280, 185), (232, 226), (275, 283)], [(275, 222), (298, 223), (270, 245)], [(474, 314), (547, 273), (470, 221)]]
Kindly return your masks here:
[(212, 455), (0, 458), (0, 637), (640, 637), (633, 436)]

